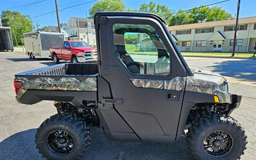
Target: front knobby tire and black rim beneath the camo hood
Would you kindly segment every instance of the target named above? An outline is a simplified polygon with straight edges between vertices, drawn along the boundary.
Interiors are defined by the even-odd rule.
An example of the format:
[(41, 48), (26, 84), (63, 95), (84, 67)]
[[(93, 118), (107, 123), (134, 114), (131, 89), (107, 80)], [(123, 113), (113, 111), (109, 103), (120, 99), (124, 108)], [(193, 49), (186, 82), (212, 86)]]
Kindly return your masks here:
[(234, 118), (208, 115), (188, 129), (187, 145), (194, 159), (240, 159), (247, 148), (247, 136)]

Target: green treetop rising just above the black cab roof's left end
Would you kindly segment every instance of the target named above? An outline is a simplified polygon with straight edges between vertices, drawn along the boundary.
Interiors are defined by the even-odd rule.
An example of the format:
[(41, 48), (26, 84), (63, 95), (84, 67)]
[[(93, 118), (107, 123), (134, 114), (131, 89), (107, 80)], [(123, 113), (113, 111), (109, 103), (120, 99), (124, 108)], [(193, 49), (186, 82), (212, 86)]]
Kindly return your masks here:
[(126, 5), (122, 0), (102, 0), (94, 3), (89, 9), (90, 17), (93, 18), (94, 14), (100, 11), (125, 11)]

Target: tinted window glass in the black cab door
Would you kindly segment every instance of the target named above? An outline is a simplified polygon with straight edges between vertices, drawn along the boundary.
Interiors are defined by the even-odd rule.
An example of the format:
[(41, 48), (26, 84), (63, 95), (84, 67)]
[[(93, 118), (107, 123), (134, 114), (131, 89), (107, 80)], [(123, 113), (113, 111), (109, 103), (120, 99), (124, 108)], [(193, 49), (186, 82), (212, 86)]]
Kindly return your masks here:
[(114, 24), (115, 54), (132, 74), (170, 74), (170, 53), (151, 25)]

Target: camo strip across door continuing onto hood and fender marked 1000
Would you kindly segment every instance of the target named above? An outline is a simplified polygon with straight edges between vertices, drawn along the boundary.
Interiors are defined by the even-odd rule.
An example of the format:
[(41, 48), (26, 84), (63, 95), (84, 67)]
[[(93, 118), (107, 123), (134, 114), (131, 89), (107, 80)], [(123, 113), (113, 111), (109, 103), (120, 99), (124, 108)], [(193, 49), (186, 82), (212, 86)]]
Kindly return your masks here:
[[(211, 72), (209, 72), (211, 73)], [(185, 80), (187, 83), (185, 86)], [(218, 96), (220, 103), (231, 103), (231, 94), (223, 92), (216, 86), (225, 82), (225, 78), (218, 74), (194, 74), (189, 77), (175, 77), (171, 80), (134, 79), (130, 78), (134, 86), (140, 88), (166, 89), (174, 91), (191, 91)], [(199, 86), (199, 87), (198, 87)]]

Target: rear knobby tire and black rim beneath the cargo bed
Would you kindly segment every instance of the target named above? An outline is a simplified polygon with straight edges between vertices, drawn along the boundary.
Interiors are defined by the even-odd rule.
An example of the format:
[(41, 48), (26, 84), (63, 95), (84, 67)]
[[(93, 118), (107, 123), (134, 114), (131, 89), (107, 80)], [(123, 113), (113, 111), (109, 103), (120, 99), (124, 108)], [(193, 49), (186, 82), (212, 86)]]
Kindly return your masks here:
[(57, 114), (46, 119), (36, 132), (36, 148), (42, 157), (80, 159), (90, 145), (90, 130), (75, 115)]

